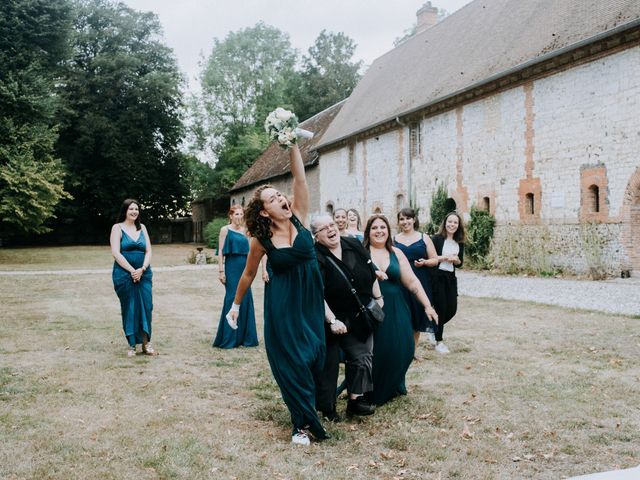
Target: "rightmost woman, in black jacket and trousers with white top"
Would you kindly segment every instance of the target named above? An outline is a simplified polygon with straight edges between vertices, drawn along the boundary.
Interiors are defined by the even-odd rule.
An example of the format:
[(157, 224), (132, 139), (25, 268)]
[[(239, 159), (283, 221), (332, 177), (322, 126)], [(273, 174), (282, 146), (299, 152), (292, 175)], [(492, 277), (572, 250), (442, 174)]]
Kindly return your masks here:
[(440, 230), (431, 237), (438, 254), (438, 266), (431, 276), (433, 306), (438, 313), (436, 328), (436, 351), (449, 353), (442, 341), (444, 324), (451, 320), (458, 310), (458, 281), (456, 267), (462, 266), (464, 258), (464, 225), (456, 212), (451, 212), (442, 221)]

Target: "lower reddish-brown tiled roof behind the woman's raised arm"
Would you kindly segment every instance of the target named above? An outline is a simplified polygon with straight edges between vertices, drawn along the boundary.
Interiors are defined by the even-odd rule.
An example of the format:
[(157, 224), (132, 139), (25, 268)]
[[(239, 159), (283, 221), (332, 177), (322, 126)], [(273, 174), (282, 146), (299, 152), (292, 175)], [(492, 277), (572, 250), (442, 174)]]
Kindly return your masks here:
[[(300, 153), (302, 154), (305, 167), (316, 163), (318, 154), (315, 148), (322, 140), (322, 136), (326, 132), (327, 127), (331, 124), (343, 105), (344, 100), (300, 124), (301, 128), (314, 132), (312, 139), (300, 139)], [(276, 143), (272, 143), (264, 153), (258, 157), (254, 164), (244, 172), (230, 191), (233, 192), (234, 190), (246, 188), (256, 183), (264, 183), (269, 179), (279, 177), (289, 172), (289, 154)]]

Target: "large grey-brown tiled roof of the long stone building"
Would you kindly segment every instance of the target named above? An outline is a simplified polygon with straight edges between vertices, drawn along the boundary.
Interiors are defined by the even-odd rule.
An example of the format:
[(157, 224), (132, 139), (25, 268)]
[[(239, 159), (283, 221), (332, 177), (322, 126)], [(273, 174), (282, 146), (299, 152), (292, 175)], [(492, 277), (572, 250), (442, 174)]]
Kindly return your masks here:
[(373, 62), (318, 147), (640, 18), (640, 0), (475, 0)]

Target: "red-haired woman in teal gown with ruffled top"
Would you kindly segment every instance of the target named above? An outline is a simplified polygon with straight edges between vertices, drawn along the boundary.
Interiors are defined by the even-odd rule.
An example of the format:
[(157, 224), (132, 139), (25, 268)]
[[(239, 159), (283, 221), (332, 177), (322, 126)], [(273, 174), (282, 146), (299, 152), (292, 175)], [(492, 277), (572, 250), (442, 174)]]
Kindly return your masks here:
[(224, 285), (225, 294), (218, 322), (218, 332), (213, 341), (214, 347), (236, 348), (258, 345), (251, 289), (247, 291), (240, 305), (236, 328), (231, 328), (225, 319), (225, 314), (231, 308), (233, 297), (236, 294), (240, 276), (247, 264), (248, 253), (249, 240), (244, 227), (244, 209), (241, 205), (233, 205), (229, 209), (229, 225), (220, 229), (220, 241), (218, 242), (219, 277), (220, 282)]

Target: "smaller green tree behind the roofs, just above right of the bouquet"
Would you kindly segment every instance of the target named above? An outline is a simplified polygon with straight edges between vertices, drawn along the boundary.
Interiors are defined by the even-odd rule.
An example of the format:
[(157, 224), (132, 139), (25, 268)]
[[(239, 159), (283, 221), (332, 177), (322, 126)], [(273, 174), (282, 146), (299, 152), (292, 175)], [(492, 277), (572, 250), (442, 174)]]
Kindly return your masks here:
[(344, 33), (323, 30), (303, 58), (300, 81), (293, 85), (300, 120), (347, 98), (360, 80), (363, 62), (354, 62), (355, 42)]

